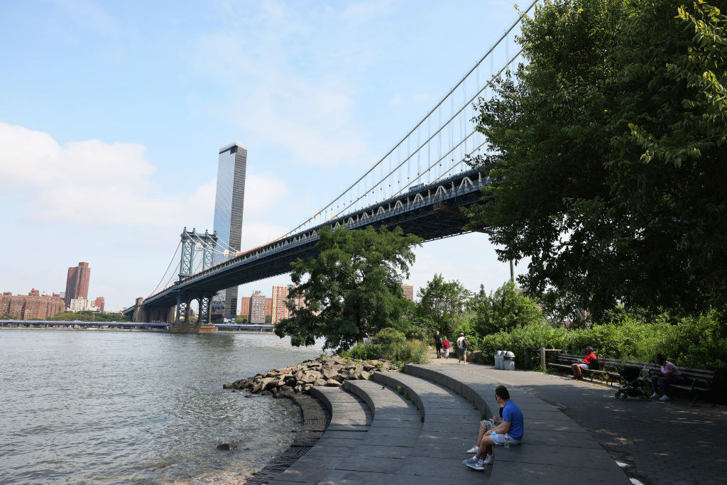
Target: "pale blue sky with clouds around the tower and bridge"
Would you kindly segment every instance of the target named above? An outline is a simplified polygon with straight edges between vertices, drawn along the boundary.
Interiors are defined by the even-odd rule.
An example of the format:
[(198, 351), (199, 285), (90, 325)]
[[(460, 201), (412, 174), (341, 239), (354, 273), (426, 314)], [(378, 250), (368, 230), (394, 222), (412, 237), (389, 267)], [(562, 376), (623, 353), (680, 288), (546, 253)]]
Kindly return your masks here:
[[(499, 0), (1, 2), (0, 291), (62, 292), (85, 261), (107, 310), (148, 296), (182, 228), (212, 231), (217, 152), (234, 141), (248, 148), (243, 250), (276, 239), (516, 17)], [(415, 292), (435, 273), (473, 291), (510, 277), (482, 233), (415, 254)]]

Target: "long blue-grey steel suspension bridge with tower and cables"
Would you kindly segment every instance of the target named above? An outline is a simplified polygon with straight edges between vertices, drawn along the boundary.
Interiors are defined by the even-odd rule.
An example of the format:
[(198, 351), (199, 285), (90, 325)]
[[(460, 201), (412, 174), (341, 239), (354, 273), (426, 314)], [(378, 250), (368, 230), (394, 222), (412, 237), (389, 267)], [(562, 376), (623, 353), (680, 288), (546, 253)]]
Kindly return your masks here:
[[(425, 241), (467, 232), (462, 209), (481, 201), (481, 190), (489, 183), (467, 164), (487, 143), (472, 121), (477, 115), (474, 103), (488, 99), (494, 82), (523, 62), (514, 37), (537, 1), (385, 156), (312, 217), (278, 239), (241, 253), (216, 234), (185, 228), (159, 284), (124, 314), (135, 322), (167, 322), (172, 332), (214, 332), (210, 309), (218, 291), (289, 273), (291, 262), (317, 253), (317, 233), (326, 225), (334, 229), (400, 226)], [(195, 262), (196, 252), (202, 257)], [(214, 265), (215, 254), (223, 262)], [(190, 320), (193, 301), (198, 302), (198, 323)]]

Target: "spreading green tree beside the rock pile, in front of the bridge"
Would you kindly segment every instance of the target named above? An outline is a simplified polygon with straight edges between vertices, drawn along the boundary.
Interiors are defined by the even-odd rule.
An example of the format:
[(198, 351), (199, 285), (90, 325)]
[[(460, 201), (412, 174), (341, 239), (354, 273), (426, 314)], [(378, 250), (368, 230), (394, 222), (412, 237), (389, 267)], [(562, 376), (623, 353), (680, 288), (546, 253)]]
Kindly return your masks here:
[[(289, 335), (295, 346), (347, 350), (379, 329), (393, 326), (406, 308), (401, 281), (414, 262), (411, 246), (422, 239), (401, 228), (379, 231), (318, 231), (319, 254), (292, 263), (294, 287), (288, 293), (292, 318), (276, 325), (278, 337)], [(305, 305), (295, 308), (302, 298)]]

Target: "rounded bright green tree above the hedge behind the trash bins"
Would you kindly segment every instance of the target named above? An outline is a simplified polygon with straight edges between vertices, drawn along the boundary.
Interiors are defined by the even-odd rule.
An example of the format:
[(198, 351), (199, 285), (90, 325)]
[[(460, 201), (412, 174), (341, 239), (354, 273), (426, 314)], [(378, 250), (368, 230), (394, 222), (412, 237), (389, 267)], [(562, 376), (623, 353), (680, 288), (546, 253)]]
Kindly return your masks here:
[(476, 313), (473, 326), (480, 335), (507, 332), (516, 326), (545, 323), (536, 302), (517, 291), (512, 281), (507, 281), (490, 294), (486, 294), (481, 286), (480, 292), (472, 300), (471, 308)]

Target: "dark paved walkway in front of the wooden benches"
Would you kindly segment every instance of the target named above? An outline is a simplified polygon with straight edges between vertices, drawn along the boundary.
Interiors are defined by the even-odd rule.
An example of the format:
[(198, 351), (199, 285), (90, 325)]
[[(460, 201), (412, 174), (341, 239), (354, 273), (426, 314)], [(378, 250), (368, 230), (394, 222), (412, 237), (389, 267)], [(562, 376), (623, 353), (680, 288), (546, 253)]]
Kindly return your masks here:
[[(614, 398), (614, 387), (557, 374), (465, 366), (457, 364), (457, 358), (432, 358), (430, 364), (516, 386), (556, 406), (642, 484), (727, 483), (725, 406), (712, 407), (702, 401), (692, 407), (686, 398), (669, 403), (635, 398), (624, 402)], [(588, 477), (583, 481), (588, 483)]]

